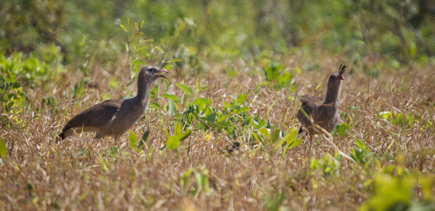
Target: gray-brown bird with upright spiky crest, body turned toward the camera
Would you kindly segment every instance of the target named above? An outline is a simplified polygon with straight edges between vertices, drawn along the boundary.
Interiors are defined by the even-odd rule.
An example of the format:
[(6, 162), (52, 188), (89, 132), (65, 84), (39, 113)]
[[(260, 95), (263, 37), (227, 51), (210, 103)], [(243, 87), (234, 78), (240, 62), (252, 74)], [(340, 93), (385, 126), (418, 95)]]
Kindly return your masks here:
[[(341, 82), (345, 78), (343, 73), (346, 70), (346, 65), (340, 65), (338, 72), (329, 76), (328, 88), (326, 90), (326, 97), (318, 97), (313, 95), (303, 95), (299, 98), (302, 102), (301, 108), (305, 113), (310, 116), (314, 124), (318, 124), (320, 127), (330, 133), (334, 129), (335, 124), (338, 121), (338, 103), (340, 100)], [(310, 134), (315, 134), (315, 130), (312, 127), (311, 121), (307, 119), (303, 111), (298, 111), (298, 119), (301, 123), (299, 133), (302, 132), (302, 127), (305, 127), (310, 131)]]

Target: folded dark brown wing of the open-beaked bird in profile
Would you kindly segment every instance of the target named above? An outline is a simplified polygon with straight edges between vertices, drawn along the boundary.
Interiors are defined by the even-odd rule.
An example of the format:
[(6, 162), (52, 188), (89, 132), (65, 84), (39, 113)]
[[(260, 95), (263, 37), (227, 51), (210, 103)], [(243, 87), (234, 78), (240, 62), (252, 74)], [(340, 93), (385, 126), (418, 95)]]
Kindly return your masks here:
[(110, 123), (125, 99), (110, 99), (96, 104), (73, 117), (62, 131), (72, 127), (104, 127)]

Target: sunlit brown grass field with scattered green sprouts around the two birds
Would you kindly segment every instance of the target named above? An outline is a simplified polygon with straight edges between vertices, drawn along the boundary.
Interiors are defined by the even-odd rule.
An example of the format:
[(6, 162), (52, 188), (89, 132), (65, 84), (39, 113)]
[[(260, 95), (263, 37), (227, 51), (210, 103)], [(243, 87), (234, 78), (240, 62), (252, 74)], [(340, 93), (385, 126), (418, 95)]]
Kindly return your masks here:
[[(101, 85), (91, 89), (82, 84), (83, 91), (75, 99), (74, 84), (84, 80), (70, 72), (66, 73), (68, 80), (29, 91), (30, 104), (22, 112), (3, 115), (3, 123), (9, 125), (1, 127), (0, 135), (7, 148), (0, 164), (0, 207), (355, 210), (373, 194), (377, 175), (417, 178), (407, 180), (410, 187), (418, 184), (411, 194), (415, 201), (433, 201), (434, 64), (399, 70), (385, 67), (378, 76), (362, 70), (364, 65), (372, 67), (371, 60), (351, 65), (351, 74), (345, 74), (339, 120), (350, 129), (331, 140), (354, 163), (320, 136), (314, 138), (315, 146), (307, 140), (284, 154), (281, 136), (276, 139), (262, 133), (261, 128), (280, 129), (283, 134), (290, 127), (298, 128), (297, 97), (324, 96), (328, 75), (341, 63), (334, 57), (319, 58), (318, 67), (300, 57), (281, 57), (274, 62), (284, 64), (281, 73), (292, 74), (279, 86), (274, 79), (266, 80), (262, 71), (266, 66), (261, 63), (210, 63), (209, 70), (199, 74), (174, 67), (169, 80), (161, 81), (154, 90), (150, 110), (131, 129), (139, 138), (151, 129), (139, 150), (130, 146), (128, 133), (117, 143), (110, 137), (94, 140), (92, 134), (83, 134), (54, 144), (56, 134), (75, 114), (102, 101), (103, 96), (127, 94), (127, 69), (88, 72), (87, 77)], [(232, 71), (222, 71), (229, 66)], [(124, 88), (107, 85), (112, 77)], [(209, 87), (200, 90), (206, 85)], [(43, 93), (52, 93), (50, 103), (50, 95)], [(246, 99), (237, 107), (242, 94)], [(199, 113), (192, 113), (187, 125), (183, 112), (188, 106), (202, 105), (199, 101), (195, 104), (201, 97), (210, 101), (204, 103), (203, 111), (199, 108)], [(170, 99), (174, 105), (169, 105)], [(236, 126), (234, 130), (226, 130), (223, 124), (216, 124), (214, 131), (208, 129), (197, 119), (210, 117), (207, 107), (226, 114), (228, 118), (222, 118), (231, 120), (228, 128)], [(225, 113), (226, 107), (237, 111)], [(244, 125), (240, 115), (252, 121)], [(160, 151), (167, 140), (164, 128), (168, 137), (177, 135), (177, 124), (192, 133), (178, 150)], [(224, 148), (234, 141), (241, 143), (240, 150), (228, 154)]]

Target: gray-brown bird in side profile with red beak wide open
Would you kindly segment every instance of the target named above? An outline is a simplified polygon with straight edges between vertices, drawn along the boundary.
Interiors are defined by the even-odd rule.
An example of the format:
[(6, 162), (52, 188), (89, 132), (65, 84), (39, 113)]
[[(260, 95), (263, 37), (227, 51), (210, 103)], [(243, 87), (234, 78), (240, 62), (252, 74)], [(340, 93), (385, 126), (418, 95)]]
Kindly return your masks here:
[(110, 99), (96, 104), (73, 117), (62, 129), (57, 141), (83, 132), (96, 132), (95, 139), (113, 136), (115, 141), (144, 114), (148, 107), (150, 86), (159, 77), (156, 73), (167, 70), (147, 65), (142, 67), (137, 78), (137, 95), (130, 99)]

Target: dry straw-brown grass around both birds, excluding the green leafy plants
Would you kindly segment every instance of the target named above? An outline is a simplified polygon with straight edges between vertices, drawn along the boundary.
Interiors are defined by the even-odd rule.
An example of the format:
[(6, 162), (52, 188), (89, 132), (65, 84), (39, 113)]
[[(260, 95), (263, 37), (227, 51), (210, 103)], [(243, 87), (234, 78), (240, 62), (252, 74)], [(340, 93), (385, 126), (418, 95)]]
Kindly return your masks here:
[[(307, 66), (300, 57), (282, 60), (287, 70), (294, 67), (304, 70)], [(369, 66), (375, 62), (378, 61), (364, 60)], [(255, 86), (264, 80), (263, 73), (258, 71), (261, 64), (247, 68), (242, 62), (229, 63), (240, 70), (238, 75), (228, 78), (222, 72), (224, 67), (212, 66), (208, 74), (199, 76), (199, 83), (211, 88), (198, 97), (210, 98), (218, 108), (223, 101), (231, 100), (231, 94), (248, 94), (252, 100), (249, 112), (268, 119), (282, 130), (298, 127), (295, 116), (299, 102), (288, 97), (307, 93), (324, 95), (327, 77), (339, 65), (338, 59), (329, 59), (320, 63), (322, 71), (302, 71), (295, 78), (300, 87), (294, 93), (270, 87), (254, 92)], [(320, 169), (311, 170), (312, 158), (321, 160), (327, 154), (334, 154), (334, 149), (319, 137), (316, 138), (318, 147), (309, 148), (304, 142), (285, 156), (282, 150), (273, 151), (273, 146), (254, 148), (248, 143), (242, 143), (244, 151), (229, 155), (217, 147), (227, 144), (217, 134), (195, 131), (186, 140), (191, 143), (188, 151), (160, 152), (157, 148), (164, 144), (165, 137), (163, 130), (158, 129), (165, 125), (172, 131), (173, 122), (165, 111), (155, 109), (132, 128), (138, 136), (147, 128), (152, 129), (144, 153), (138, 154), (128, 147), (127, 134), (119, 143), (113, 143), (110, 137), (94, 141), (91, 134), (85, 134), (54, 144), (55, 134), (67, 120), (100, 102), (101, 93), (110, 92), (112, 96), (125, 93), (122, 89), (110, 90), (104, 85), (106, 79), (101, 76), (104, 74), (94, 74), (91, 77), (100, 84), (99, 90), (88, 90), (82, 103), (65, 100), (72, 91), (71, 81), (60, 80), (51, 87), (55, 90), (53, 96), (59, 114), (46, 108), (37, 116), (35, 103), (19, 117), (26, 119), (27, 125), (1, 129), (0, 137), (7, 141), (8, 157), (1, 164), (0, 207), (5, 210), (276, 210), (283, 206), (290, 210), (355, 210), (372, 192), (371, 186), (365, 183), (388, 164), (433, 175), (434, 128), (428, 127), (427, 122), (435, 122), (435, 65), (385, 69), (378, 78), (364, 74), (361, 67), (351, 68), (355, 72), (345, 74), (341, 94), (341, 113), (348, 115), (341, 115), (339, 121), (350, 124), (351, 130), (333, 141), (341, 151), (350, 153), (356, 147), (355, 139), (364, 140), (371, 152), (376, 153), (380, 166), (375, 162), (352, 164), (343, 159), (330, 175)], [(122, 71), (113, 76), (120, 77), (119, 72)], [(185, 70), (171, 72), (168, 91), (181, 98), (183, 92), (174, 84), (183, 80), (194, 87), (197, 76)], [(127, 81), (127, 75), (122, 75), (124, 82)], [(111, 79), (111, 74), (108, 76)], [(320, 88), (316, 87), (318, 84)], [(165, 84), (160, 86), (162, 92)], [(35, 102), (44, 96), (44, 90), (28, 93)], [(159, 99), (159, 103), (166, 105), (166, 99)], [(182, 112), (185, 105), (179, 106), (178, 111)], [(416, 123), (413, 127), (391, 124), (378, 117), (382, 111), (414, 114)], [(204, 141), (204, 134), (211, 135), (213, 144)], [(111, 146), (119, 147), (116, 155), (110, 154)], [(83, 148), (89, 154), (81, 153)], [(390, 155), (404, 159), (393, 160)], [(198, 187), (194, 173), (187, 182), (183, 180), (184, 173), (191, 168), (206, 175), (209, 193), (191, 191)]]

